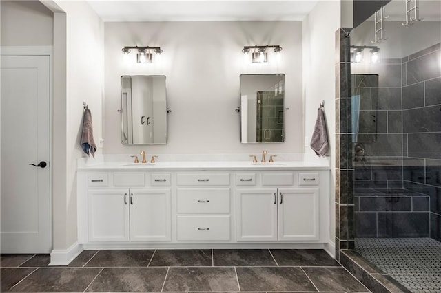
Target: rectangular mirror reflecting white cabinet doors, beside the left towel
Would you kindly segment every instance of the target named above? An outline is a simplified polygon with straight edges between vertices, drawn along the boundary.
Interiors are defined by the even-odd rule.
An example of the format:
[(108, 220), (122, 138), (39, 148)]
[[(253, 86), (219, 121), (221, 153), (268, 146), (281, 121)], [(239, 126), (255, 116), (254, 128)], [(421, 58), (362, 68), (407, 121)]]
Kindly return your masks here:
[(165, 76), (121, 76), (121, 142), (167, 143)]

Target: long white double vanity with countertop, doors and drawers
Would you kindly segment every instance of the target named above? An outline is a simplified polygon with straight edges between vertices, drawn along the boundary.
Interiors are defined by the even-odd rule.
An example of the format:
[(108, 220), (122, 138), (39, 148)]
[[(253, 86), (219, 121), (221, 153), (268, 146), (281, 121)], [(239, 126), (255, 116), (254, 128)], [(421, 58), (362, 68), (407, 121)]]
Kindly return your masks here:
[(154, 164), (128, 155), (80, 159), (83, 248), (322, 248), (329, 242), (329, 162), (190, 157), (160, 155)]

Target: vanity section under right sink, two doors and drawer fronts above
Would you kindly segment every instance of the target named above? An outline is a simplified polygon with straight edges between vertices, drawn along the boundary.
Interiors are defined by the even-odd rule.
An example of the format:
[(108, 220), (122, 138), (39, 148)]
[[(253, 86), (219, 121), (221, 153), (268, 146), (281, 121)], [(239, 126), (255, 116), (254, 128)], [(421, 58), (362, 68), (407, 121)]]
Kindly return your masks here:
[[(254, 184), (252, 177), (258, 178)], [(303, 187), (303, 178), (308, 187)], [(319, 181), (318, 173), (238, 173), (237, 241), (317, 241)]]

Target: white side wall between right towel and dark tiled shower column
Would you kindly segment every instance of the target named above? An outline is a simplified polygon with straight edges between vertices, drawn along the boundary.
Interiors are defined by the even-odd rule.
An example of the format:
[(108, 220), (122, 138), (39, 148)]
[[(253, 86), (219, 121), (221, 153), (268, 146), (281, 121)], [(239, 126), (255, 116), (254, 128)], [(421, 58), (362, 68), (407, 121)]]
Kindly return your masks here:
[(305, 107), (305, 153), (314, 153), (309, 147), (317, 117), (317, 108), (325, 101), (325, 118), (331, 156), (331, 186), (329, 190), (329, 235), (335, 239), (335, 32), (340, 28), (340, 1), (320, 1), (303, 21), (303, 98)]

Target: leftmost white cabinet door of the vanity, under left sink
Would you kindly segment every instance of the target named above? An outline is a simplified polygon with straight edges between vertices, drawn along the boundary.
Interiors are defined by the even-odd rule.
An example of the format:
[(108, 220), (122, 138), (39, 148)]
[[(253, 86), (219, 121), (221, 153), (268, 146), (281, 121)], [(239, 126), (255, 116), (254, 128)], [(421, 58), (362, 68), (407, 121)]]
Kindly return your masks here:
[(89, 241), (129, 241), (128, 193), (127, 189), (88, 191)]

